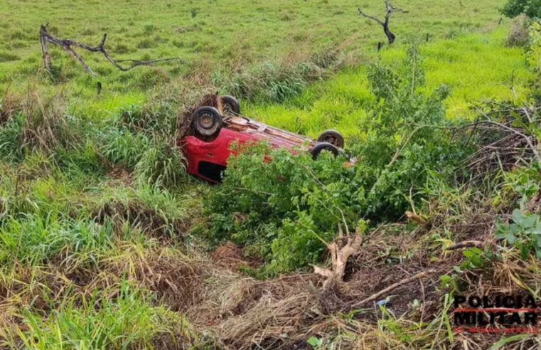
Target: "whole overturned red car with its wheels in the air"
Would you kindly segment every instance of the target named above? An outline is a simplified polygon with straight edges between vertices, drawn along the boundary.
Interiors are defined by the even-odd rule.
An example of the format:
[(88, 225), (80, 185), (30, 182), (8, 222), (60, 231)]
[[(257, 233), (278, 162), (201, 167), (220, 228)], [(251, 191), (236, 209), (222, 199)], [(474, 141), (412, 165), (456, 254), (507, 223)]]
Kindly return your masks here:
[[(234, 151), (232, 142), (265, 141), (272, 147), (306, 150), (317, 159), (321, 152), (336, 157), (343, 149), (344, 140), (336, 130), (326, 130), (317, 140), (240, 115), (240, 105), (232, 96), (218, 97), (217, 103), (200, 105), (191, 112), (190, 132), (178, 140), (188, 161), (188, 173), (213, 183), (222, 180), (227, 159)], [(209, 100), (210, 101), (210, 100)]]

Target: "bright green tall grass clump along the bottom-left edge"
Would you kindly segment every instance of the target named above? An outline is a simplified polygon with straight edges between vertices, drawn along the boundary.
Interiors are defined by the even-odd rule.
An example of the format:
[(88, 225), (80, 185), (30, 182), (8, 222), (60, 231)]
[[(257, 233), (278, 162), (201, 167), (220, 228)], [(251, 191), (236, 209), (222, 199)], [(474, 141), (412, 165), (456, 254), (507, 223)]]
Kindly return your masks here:
[(23, 324), (28, 330), (18, 331), (26, 349), (178, 349), (189, 335), (181, 316), (153, 306), (149, 293), (126, 282), (115, 298), (99, 295), (107, 292), (77, 302), (68, 297), (45, 318), (27, 309)]

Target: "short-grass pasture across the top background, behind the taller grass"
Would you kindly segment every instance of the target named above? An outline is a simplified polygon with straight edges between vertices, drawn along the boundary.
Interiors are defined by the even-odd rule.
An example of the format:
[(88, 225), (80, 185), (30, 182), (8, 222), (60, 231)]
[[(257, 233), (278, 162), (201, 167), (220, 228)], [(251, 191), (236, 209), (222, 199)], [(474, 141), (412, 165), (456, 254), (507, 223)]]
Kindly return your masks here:
[[(497, 8), (503, 3), (395, 1), (410, 12), (395, 14), (391, 26), (399, 41), (405, 33), (419, 33), (419, 28), (433, 39), (487, 30), (496, 26), (500, 18)], [(358, 57), (371, 55), (385, 36), (380, 26), (358, 15), (358, 6), (375, 16), (385, 11), (382, 1), (354, 0), (2, 1), (0, 91), (7, 87), (20, 90), (41, 71), (38, 33), (44, 23), (50, 23), (49, 31), (55, 36), (92, 45), (107, 33), (107, 48), (117, 58), (180, 57), (188, 62), (122, 73), (99, 54), (83, 53), (104, 83), (105, 99), (109, 99), (111, 91), (131, 95), (134, 90), (159, 87), (194, 69), (211, 73), (284, 55), (304, 55), (318, 48), (332, 46)], [(78, 63), (60, 48), (51, 47), (51, 51), (55, 73), (49, 78), (38, 73), (38, 84), (50, 88), (68, 85), (77, 95), (95, 95), (95, 83)]]

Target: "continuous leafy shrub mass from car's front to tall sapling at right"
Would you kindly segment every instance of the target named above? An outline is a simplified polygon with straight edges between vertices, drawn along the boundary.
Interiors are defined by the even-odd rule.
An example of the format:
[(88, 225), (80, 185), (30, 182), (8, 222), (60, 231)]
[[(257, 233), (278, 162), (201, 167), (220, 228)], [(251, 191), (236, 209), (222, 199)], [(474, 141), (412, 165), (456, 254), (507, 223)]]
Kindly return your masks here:
[(269, 263), (264, 272), (287, 272), (321, 259), (338, 224), (354, 230), (360, 220), (397, 220), (422, 199), (429, 174), (453, 179), (469, 153), (444, 128), (448, 89), (420, 92), (421, 63), (412, 45), (401, 70), (370, 68), (370, 136), (350, 149), (355, 166), (343, 156), (313, 161), (264, 144), (230, 158), (222, 186), (205, 198), (210, 238), (245, 245)]

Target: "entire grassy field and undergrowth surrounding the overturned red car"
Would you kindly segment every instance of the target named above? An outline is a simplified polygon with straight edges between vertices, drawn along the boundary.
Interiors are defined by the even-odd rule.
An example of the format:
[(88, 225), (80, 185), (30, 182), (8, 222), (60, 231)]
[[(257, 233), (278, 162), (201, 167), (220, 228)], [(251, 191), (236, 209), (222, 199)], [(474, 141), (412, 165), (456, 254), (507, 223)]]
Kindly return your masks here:
[[(495, 344), (453, 334), (448, 311), (459, 285), (467, 292), (527, 285), (539, 298), (541, 264), (520, 258), (537, 226), (515, 229), (524, 245), (493, 249), (495, 217), (507, 225), (519, 203), (531, 216), (513, 212), (516, 224), (541, 222), (541, 179), (527, 165), (533, 156), (520, 137), (478, 137), (460, 124), (480, 117), (473, 107), (488, 100), (505, 110), (527, 102), (537, 122), (538, 77), (527, 60), (537, 56), (505, 44), (504, 3), (397, 0), (409, 13), (393, 15), (397, 42), (378, 52), (382, 28), (357, 7), (381, 17), (379, 0), (1, 0), (0, 349)], [(92, 45), (107, 33), (115, 58), (183, 63), (123, 73), (82, 52), (103, 84), (98, 94), (60, 48), (50, 46), (53, 71), (43, 70), (44, 23), (58, 38)], [(410, 73), (412, 38), (422, 41), (422, 63)], [(374, 64), (400, 73), (400, 102), (376, 97), (386, 82), (370, 80)], [(412, 88), (417, 68), (426, 82)], [(451, 95), (440, 105), (432, 92), (441, 85)], [(330, 157), (277, 153), (262, 166), (254, 161), (261, 154), (248, 155), (238, 163), (246, 173), (240, 166), (230, 182), (208, 186), (186, 174), (176, 127), (186, 104), (215, 90), (239, 95), (243, 114), (276, 127), (311, 137), (338, 129), (366, 157), (350, 169)], [(426, 120), (436, 120), (434, 129), (416, 135)], [(466, 142), (460, 132), (438, 132), (448, 127), (466, 130)], [(527, 138), (535, 123), (512, 127)], [(511, 167), (505, 155), (496, 169), (482, 152), (475, 158), (472, 147), (498, 147), (498, 139), (515, 142), (505, 146), (509, 154), (527, 157)], [(396, 149), (404, 152), (390, 161)], [(462, 173), (478, 163), (484, 177)], [(407, 220), (404, 208), (429, 224)], [(370, 241), (351, 257), (348, 281), (328, 290), (308, 263), (326, 264), (321, 237), (333, 239), (336, 223), (364, 226)], [(469, 255), (444, 251), (473, 239), (491, 245)], [(298, 251), (301, 263), (286, 265)], [(426, 282), (393, 292), (393, 307), (351, 306), (428, 267), (436, 272)], [(523, 338), (513, 339), (539, 345)]]

